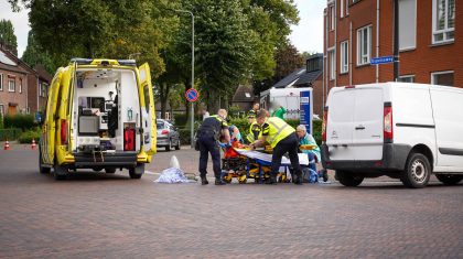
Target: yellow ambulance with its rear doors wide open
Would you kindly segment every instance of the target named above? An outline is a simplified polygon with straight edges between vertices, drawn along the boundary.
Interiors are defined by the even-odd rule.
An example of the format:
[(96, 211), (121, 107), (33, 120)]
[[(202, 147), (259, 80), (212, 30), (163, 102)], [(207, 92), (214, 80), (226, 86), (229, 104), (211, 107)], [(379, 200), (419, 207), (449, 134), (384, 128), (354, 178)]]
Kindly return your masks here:
[(71, 170), (140, 179), (155, 153), (154, 101), (148, 64), (133, 60), (73, 58), (50, 86), (39, 168), (56, 180)]

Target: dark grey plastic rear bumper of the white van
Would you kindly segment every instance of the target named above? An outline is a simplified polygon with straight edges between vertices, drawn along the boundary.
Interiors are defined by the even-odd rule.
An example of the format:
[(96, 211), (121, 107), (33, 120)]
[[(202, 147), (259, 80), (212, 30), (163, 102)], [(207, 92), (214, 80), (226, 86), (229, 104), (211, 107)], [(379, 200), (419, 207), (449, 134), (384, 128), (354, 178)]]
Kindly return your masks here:
[(384, 143), (381, 160), (331, 160), (329, 147), (323, 143), (322, 164), (325, 169), (332, 170), (355, 170), (357, 172), (372, 171), (401, 171), (406, 166), (407, 157), (410, 153), (411, 147), (408, 144)]

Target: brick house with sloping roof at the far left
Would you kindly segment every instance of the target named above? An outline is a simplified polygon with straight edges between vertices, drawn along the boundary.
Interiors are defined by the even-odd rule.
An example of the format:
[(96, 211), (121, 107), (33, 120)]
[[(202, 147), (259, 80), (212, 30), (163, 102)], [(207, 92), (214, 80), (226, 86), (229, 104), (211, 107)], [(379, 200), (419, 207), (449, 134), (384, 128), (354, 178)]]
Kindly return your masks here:
[(43, 110), (52, 77), (0, 47), (0, 114), (31, 114)]

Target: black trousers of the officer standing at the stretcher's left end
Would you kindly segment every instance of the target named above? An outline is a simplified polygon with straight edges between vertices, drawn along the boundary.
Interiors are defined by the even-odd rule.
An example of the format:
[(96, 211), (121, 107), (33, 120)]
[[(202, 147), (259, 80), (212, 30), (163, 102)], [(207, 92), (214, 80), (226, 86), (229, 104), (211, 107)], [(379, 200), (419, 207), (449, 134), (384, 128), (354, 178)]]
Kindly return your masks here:
[(202, 177), (207, 174), (207, 160), (211, 153), (213, 160), (214, 175), (219, 179), (220, 171), (220, 151), (217, 141), (214, 139), (213, 133), (203, 133), (198, 139), (200, 143), (200, 174)]

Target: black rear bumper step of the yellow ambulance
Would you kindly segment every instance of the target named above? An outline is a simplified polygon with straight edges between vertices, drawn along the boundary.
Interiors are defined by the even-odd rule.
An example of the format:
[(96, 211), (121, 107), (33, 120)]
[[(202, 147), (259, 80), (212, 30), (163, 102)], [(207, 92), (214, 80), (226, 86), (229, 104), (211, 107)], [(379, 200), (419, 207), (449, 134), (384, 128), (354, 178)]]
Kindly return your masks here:
[[(101, 157), (103, 154), (103, 157)], [(132, 168), (137, 165), (137, 152), (115, 152), (115, 153), (99, 153), (95, 157), (91, 153), (76, 152), (73, 153), (75, 158), (75, 168), (94, 168), (94, 166), (123, 166)]]

